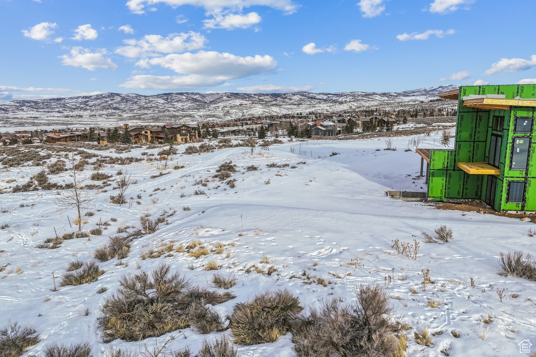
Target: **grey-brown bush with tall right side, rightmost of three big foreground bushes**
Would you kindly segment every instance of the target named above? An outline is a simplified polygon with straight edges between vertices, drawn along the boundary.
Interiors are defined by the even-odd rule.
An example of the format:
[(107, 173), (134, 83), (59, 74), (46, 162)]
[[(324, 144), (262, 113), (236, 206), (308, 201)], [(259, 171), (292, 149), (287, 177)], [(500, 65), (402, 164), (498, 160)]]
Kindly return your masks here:
[(404, 338), (395, 335), (399, 325), (392, 321), (389, 295), (379, 285), (361, 286), (356, 295), (349, 305), (329, 300), (299, 318), (292, 331), (298, 357), (396, 355)]

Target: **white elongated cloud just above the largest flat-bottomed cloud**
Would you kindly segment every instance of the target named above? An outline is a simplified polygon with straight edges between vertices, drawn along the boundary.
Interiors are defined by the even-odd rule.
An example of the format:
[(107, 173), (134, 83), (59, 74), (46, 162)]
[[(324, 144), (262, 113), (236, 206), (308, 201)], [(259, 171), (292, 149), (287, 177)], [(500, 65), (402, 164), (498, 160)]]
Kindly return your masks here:
[(206, 38), (198, 32), (188, 32), (180, 34), (169, 34), (167, 37), (160, 35), (145, 35), (139, 40), (123, 40), (128, 46), (115, 50), (120, 54), (130, 58), (144, 58), (157, 56), (156, 53), (171, 54), (173, 52), (184, 52), (197, 50), (205, 47)]

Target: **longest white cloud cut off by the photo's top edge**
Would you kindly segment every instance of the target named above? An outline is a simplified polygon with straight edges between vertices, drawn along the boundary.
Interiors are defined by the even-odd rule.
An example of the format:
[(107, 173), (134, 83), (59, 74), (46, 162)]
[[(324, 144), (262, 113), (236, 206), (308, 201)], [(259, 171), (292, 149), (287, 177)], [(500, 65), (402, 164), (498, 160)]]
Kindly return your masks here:
[(158, 3), (172, 7), (192, 5), (204, 7), (205, 10), (229, 9), (233, 11), (242, 11), (244, 7), (249, 6), (264, 5), (285, 13), (294, 13), (298, 7), (291, 0), (129, 0), (126, 6), (133, 13), (144, 13), (145, 6)]

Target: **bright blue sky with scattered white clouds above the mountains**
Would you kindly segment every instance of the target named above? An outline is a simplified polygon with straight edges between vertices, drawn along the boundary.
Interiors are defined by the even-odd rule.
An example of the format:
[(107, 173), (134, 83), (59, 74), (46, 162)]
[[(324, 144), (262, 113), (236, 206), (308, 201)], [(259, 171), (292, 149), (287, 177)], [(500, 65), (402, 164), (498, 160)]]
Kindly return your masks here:
[(533, 0), (0, 0), (0, 100), (536, 82)]

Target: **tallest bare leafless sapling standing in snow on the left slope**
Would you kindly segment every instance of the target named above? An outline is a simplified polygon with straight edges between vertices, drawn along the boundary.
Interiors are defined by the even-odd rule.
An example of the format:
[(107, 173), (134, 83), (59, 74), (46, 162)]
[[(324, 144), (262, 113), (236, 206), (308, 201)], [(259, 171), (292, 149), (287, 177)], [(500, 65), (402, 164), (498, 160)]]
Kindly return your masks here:
[(78, 230), (82, 230), (82, 216), (81, 210), (92, 208), (93, 202), (95, 202), (95, 195), (87, 192), (83, 187), (83, 183), (88, 179), (87, 177), (81, 177), (79, 172), (84, 170), (84, 164), (80, 160), (76, 159), (75, 153), (71, 153), (67, 159), (70, 166), (67, 169), (69, 176), (73, 180), (73, 188), (67, 189), (54, 200), (57, 206), (63, 209), (76, 208), (78, 211)]

